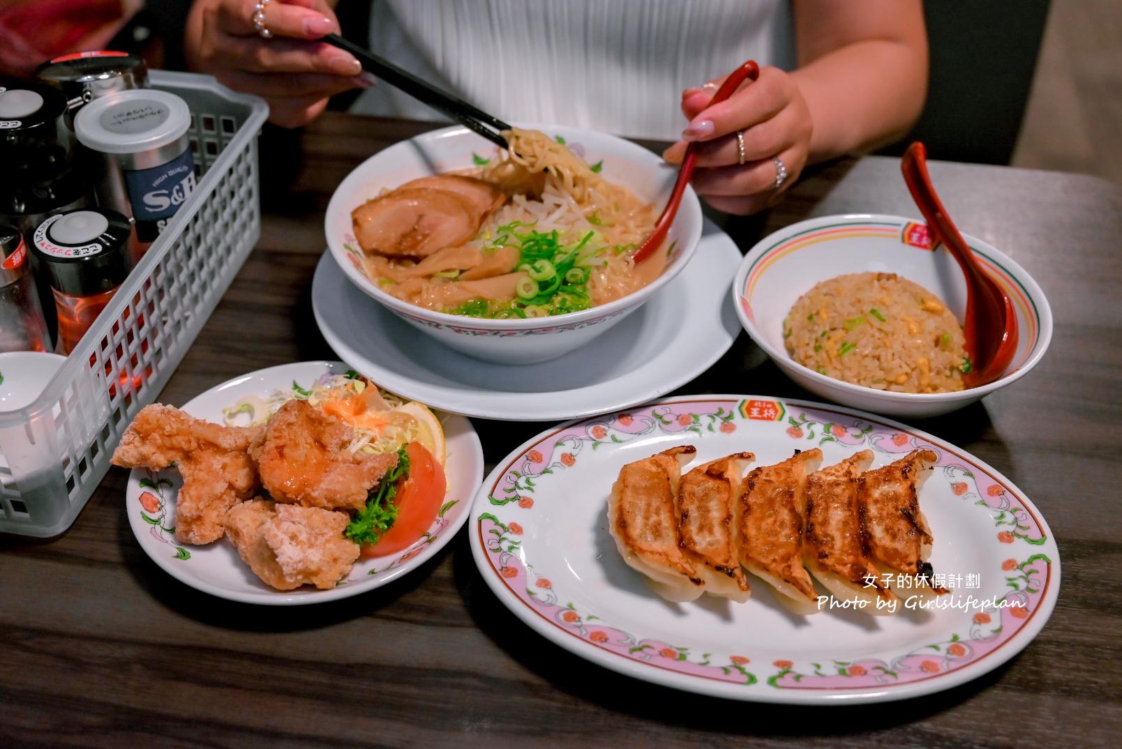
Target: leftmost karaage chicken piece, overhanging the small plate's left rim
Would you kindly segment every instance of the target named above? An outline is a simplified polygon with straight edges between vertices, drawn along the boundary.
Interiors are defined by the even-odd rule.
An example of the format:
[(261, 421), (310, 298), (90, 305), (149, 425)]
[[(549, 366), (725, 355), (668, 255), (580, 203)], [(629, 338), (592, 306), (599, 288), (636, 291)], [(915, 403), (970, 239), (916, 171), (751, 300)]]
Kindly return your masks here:
[(222, 537), (227, 510), (258, 488), (249, 445), (261, 427), (222, 426), (173, 406), (145, 406), (113, 452), (113, 465), (159, 471), (176, 464), (183, 488), (175, 499), (175, 537), (210, 544)]

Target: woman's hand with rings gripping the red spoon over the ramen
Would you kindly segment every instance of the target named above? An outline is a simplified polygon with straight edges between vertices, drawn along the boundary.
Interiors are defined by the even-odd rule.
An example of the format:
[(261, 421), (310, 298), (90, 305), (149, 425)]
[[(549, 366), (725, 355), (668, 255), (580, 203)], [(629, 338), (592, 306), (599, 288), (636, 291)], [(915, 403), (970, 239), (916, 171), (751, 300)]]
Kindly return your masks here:
[[(689, 142), (700, 144), (693, 189), (718, 211), (755, 213), (775, 203), (806, 166), (813, 132), (810, 110), (794, 78), (778, 67), (762, 68), (760, 80), (709, 107), (720, 81), (682, 92), (682, 112), (690, 124), (663, 158), (681, 164)], [(736, 139), (741, 131), (743, 159)], [(778, 189), (775, 157), (787, 168)]]

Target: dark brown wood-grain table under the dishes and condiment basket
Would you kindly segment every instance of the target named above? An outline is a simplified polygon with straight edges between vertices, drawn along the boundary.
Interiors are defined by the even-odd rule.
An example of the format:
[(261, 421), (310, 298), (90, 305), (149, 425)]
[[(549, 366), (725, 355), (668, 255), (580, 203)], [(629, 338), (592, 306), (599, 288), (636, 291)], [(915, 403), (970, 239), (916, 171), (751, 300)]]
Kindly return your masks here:
[[(265, 151), (298, 174), (291, 189), (267, 188), (260, 244), (160, 400), (334, 358), (310, 299), (328, 198), (373, 151), (424, 129), (329, 114), (293, 144), (302, 160)], [(277, 169), (266, 174), (267, 187), (282, 183)], [(1028, 268), (1056, 316), (1031, 374), (917, 424), (1015, 481), (1059, 543), (1059, 604), (1011, 663), (949, 692), (870, 706), (678, 693), (532, 632), (490, 593), (463, 533), (370, 593), (293, 609), (230, 603), (140, 551), (122, 511), (127, 472), (113, 470), (65, 536), (0, 540), (0, 746), (1118, 746), (1122, 193), (1072, 174), (962, 164), (931, 174), (959, 225)], [(916, 214), (895, 160), (831, 164), (769, 215), (724, 224), (747, 249), (793, 221), (859, 211)], [(746, 390), (808, 397), (746, 335), (681, 389)], [(494, 463), (543, 425), (476, 428)]]

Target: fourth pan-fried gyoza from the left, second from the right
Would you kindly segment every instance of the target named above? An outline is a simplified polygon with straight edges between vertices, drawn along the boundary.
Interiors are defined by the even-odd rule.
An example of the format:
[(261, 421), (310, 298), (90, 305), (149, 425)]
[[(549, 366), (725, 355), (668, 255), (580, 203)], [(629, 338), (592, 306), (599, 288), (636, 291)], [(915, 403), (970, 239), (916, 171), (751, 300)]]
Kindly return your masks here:
[(892, 613), (895, 597), (881, 583), (880, 572), (865, 556), (857, 511), (857, 477), (873, 463), (873, 451), (862, 450), (840, 463), (807, 477), (807, 530), (802, 561), (810, 573), (839, 601), (864, 601), (867, 613)]

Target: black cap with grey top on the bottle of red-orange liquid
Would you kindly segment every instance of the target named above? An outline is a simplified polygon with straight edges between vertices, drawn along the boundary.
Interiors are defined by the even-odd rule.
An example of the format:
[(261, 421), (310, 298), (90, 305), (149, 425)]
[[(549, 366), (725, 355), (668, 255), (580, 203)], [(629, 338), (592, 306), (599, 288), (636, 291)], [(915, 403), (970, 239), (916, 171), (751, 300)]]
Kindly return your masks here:
[(70, 296), (117, 288), (129, 275), (132, 225), (105, 209), (56, 213), (35, 230), (31, 252), (50, 286)]

